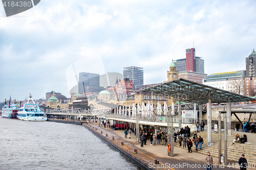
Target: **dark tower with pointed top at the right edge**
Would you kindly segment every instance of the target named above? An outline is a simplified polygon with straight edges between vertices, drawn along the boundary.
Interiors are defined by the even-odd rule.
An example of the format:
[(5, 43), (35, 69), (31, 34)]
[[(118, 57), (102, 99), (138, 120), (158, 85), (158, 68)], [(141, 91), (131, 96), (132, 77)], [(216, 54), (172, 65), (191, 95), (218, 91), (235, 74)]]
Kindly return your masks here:
[(254, 49), (245, 60), (246, 60), (246, 77), (255, 76), (256, 52), (254, 51)]

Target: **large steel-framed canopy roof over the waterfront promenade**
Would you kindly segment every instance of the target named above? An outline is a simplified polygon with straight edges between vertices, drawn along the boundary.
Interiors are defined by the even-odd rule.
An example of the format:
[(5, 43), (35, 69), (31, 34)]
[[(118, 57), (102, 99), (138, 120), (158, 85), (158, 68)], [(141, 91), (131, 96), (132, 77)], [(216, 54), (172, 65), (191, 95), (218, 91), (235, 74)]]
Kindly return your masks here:
[(255, 101), (254, 98), (185, 79), (162, 83), (142, 91), (164, 95), (168, 99), (193, 103), (208, 103), (209, 99), (211, 103)]

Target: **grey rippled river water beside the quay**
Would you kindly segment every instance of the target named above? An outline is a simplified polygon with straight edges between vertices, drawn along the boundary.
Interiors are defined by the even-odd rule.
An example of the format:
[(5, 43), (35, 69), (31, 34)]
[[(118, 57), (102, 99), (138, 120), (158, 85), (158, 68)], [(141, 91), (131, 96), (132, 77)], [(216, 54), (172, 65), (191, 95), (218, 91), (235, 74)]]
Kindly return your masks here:
[(138, 169), (81, 125), (0, 116), (0, 169)]

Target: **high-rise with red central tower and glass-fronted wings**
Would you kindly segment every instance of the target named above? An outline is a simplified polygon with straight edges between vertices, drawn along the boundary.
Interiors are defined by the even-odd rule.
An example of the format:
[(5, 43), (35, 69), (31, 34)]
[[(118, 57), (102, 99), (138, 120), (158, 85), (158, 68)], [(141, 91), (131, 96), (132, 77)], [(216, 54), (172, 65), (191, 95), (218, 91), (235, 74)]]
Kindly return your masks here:
[(204, 60), (196, 57), (195, 48), (186, 49), (186, 58), (174, 60), (176, 70), (179, 72), (193, 71), (204, 74)]

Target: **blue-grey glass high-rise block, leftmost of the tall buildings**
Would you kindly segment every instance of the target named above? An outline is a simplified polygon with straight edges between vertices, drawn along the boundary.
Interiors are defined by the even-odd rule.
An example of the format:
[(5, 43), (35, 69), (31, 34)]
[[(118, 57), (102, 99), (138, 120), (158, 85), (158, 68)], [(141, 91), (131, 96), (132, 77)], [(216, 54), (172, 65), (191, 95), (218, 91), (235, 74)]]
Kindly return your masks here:
[(79, 72), (78, 93), (98, 92), (104, 90), (99, 86), (99, 74)]

